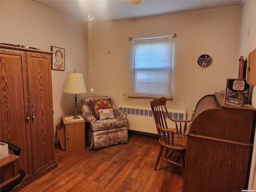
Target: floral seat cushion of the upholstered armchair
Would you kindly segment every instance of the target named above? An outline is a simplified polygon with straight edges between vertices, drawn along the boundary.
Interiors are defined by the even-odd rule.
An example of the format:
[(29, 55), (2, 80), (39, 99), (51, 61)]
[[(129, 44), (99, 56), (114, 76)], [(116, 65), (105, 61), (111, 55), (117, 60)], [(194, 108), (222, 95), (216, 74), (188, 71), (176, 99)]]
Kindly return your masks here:
[(91, 124), (91, 130), (93, 132), (100, 131), (100, 130), (108, 130), (114, 128), (122, 128), (128, 127), (128, 119), (104, 119), (104, 120), (97, 120), (94, 124)]

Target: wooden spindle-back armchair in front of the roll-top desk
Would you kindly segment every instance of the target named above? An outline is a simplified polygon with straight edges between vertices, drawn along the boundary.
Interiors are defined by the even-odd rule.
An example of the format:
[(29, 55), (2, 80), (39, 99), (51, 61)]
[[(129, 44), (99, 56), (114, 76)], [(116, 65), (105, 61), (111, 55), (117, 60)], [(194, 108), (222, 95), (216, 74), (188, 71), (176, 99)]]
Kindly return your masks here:
[[(150, 100), (150, 105), (152, 108), (154, 120), (156, 123), (156, 128), (159, 137), (160, 150), (158, 154), (158, 159), (156, 162), (155, 170), (158, 166), (159, 160), (165, 160), (172, 164), (181, 166), (182, 175), (184, 176), (185, 164), (183, 153), (186, 152), (187, 136), (185, 135), (187, 123), (189, 120), (174, 120), (170, 118), (167, 108), (166, 108), (166, 98), (161, 97), (158, 99)], [(171, 120), (175, 122), (176, 128), (168, 128), (167, 121)], [(178, 126), (179, 124), (179, 126)], [(182, 133), (183, 132), (183, 133)], [(166, 153), (162, 157), (163, 149), (166, 148)], [(168, 152), (170, 150), (170, 154)], [(171, 159), (172, 154), (178, 152), (178, 159)], [(180, 159), (180, 164), (178, 160)]]

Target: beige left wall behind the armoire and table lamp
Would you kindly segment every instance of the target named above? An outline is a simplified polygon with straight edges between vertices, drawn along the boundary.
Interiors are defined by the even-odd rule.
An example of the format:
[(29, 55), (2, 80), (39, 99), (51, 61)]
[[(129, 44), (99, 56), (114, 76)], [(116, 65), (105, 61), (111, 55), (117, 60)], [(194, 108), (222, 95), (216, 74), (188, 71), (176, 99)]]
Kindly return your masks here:
[[(28, 45), (50, 51), (51, 46), (65, 49), (65, 71), (52, 70), (52, 92), (55, 126), (60, 117), (74, 114), (74, 95), (63, 93), (66, 74), (83, 72), (87, 82), (87, 25), (47, 10), (28, 1), (0, 1), (0, 42)], [(88, 87), (88, 83), (86, 84)], [(80, 100), (86, 94), (78, 94)]]

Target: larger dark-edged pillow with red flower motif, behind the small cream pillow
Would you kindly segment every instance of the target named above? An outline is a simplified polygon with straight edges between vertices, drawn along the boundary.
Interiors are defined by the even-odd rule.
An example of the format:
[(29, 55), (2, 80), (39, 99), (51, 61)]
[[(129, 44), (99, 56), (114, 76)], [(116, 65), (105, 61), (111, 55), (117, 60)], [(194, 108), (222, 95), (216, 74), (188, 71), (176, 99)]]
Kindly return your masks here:
[(98, 110), (100, 109), (112, 109), (111, 103), (112, 99), (108, 98), (108, 100), (103, 99), (103, 100), (90, 100), (89, 104), (90, 104), (90, 108), (92, 110), (92, 115), (99, 120), (100, 116), (99, 116), (99, 112)]

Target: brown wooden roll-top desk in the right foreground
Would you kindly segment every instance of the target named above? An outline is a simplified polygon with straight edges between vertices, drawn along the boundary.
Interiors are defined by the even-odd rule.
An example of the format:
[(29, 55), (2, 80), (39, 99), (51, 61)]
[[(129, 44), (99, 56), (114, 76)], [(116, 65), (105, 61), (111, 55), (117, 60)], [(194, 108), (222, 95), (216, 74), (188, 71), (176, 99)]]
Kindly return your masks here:
[(188, 128), (184, 192), (242, 191), (248, 186), (256, 109), (201, 98)]

